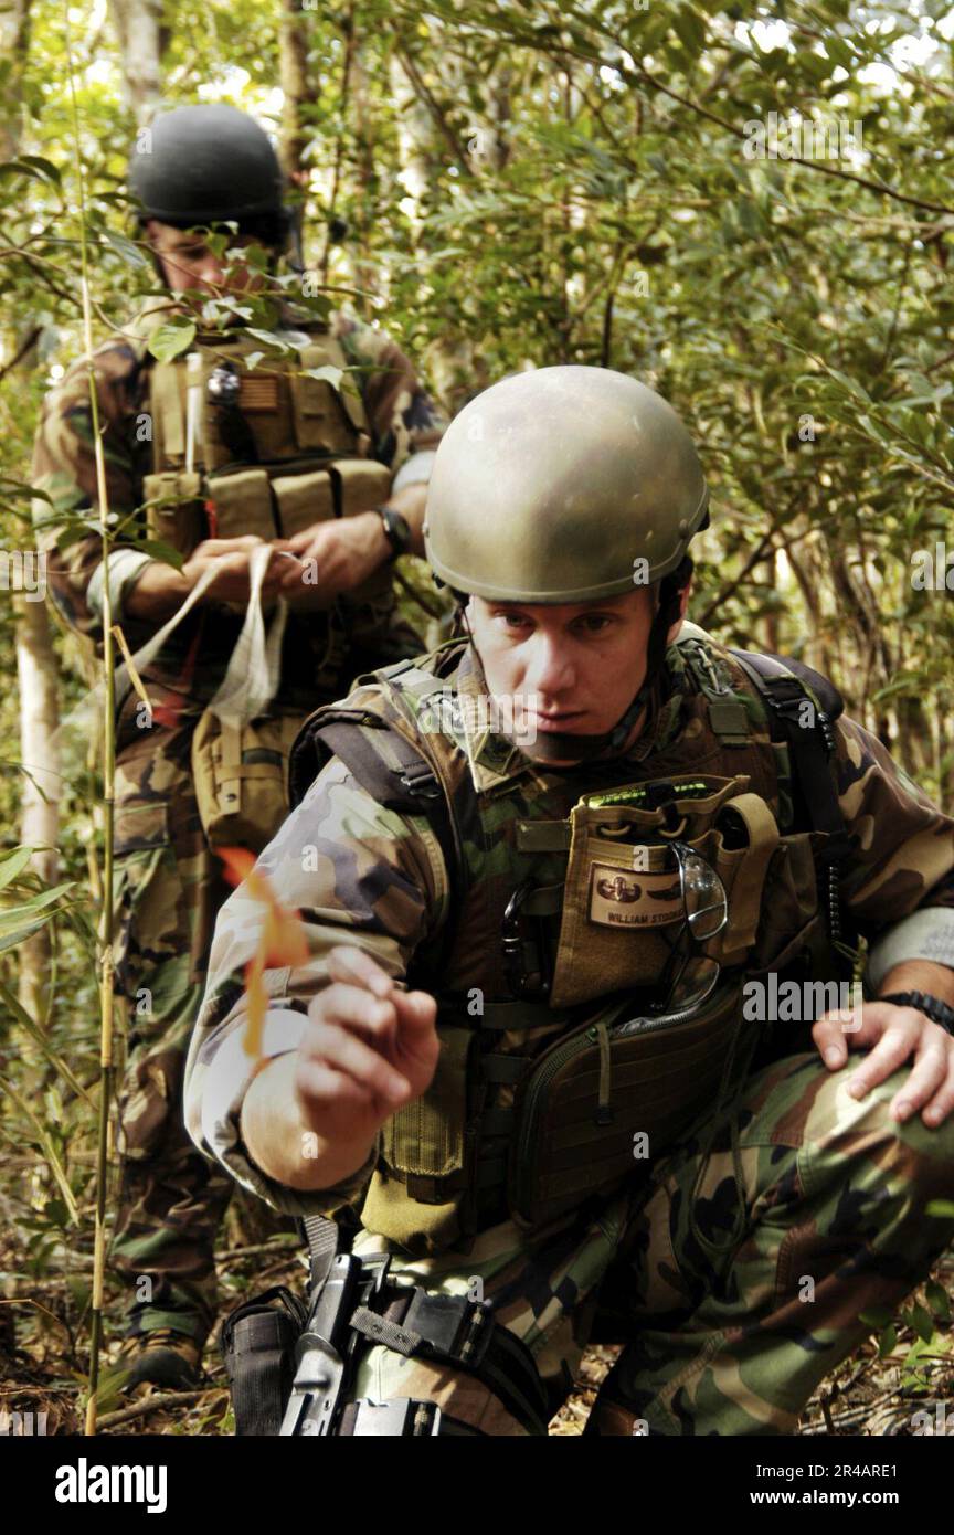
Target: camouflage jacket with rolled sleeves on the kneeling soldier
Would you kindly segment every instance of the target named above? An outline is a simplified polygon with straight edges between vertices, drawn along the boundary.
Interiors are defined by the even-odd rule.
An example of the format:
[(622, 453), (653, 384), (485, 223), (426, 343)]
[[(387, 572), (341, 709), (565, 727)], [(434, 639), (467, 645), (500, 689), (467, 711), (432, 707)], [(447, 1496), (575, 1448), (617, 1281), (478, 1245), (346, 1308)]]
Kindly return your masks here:
[[(724, 652), (716, 654), (722, 657)], [(753, 685), (730, 668), (733, 691), (752, 698)], [(679, 646), (670, 646), (666, 674), (650, 720), (626, 757), (590, 763), (572, 771), (548, 771), (531, 763), (506, 740), (486, 728), (474, 729), (475, 711), (466, 701), (482, 697), (482, 672), (465, 649), (452, 675), (460, 714), (460, 746), (468, 763), (468, 791), (480, 806), (483, 827), (497, 824), (511, 835), (514, 814), (521, 823), (534, 817), (551, 820), (560, 806), (607, 783), (649, 781), (676, 774), (698, 774), (704, 763), (718, 763), (718, 744), (707, 723), (706, 700), (695, 689)], [(367, 695), (365, 695), (367, 697)], [(362, 701), (360, 686), (351, 703)], [(486, 718), (486, 717), (485, 717)], [(899, 769), (885, 748), (847, 717), (833, 726), (833, 768), (841, 810), (851, 838), (851, 852), (841, 866), (842, 904), (859, 933), (877, 949), (897, 939), (891, 962), (899, 958), (942, 958), (923, 941), (925, 919), (954, 913), (954, 821)], [(738, 771), (752, 774), (752, 786), (771, 803), (784, 826), (787, 810), (767, 772), (776, 751), (767, 729), (753, 726), (752, 741), (738, 751)], [(713, 772), (719, 768), (715, 766)], [(486, 812), (486, 814), (485, 814)], [(566, 812), (563, 812), (566, 814)], [(477, 869), (477, 884), (498, 876), (500, 857), (492, 844), (468, 844)], [(270, 970), (265, 982), (270, 1008), (264, 1055), (293, 1050), (304, 1028), (304, 1013), (327, 984), (325, 956), (331, 947), (356, 942), (399, 981), (408, 973), (414, 985), (434, 992), (477, 984), (492, 972), (491, 950), (498, 932), (472, 921), (477, 907), (459, 910), (452, 872), (431, 823), (417, 815), (383, 809), (356, 783), (339, 758), (314, 780), (301, 804), (259, 858), (279, 900), (302, 913), (310, 959), (296, 969)], [(781, 889), (781, 887), (779, 887)], [(778, 892), (776, 892), (778, 893)], [(943, 913), (939, 907), (946, 909)], [(210, 955), (209, 981), (192, 1038), (186, 1074), (186, 1121), (207, 1154), (216, 1157), (247, 1188), (276, 1208), (296, 1214), (333, 1213), (344, 1203), (368, 1199), (382, 1154), (382, 1139), (368, 1164), (339, 1188), (301, 1194), (278, 1187), (252, 1162), (241, 1142), (239, 1114), (255, 1062), (242, 1048), (245, 1027), (244, 966), (255, 952), (262, 913), (239, 887), (219, 912)], [(919, 929), (919, 923), (922, 927)], [(784, 924), (782, 924), (784, 926)], [(439, 953), (443, 930), (463, 930), (449, 959)], [(905, 936), (906, 935), (906, 936)], [(756, 949), (778, 950), (787, 933), (779, 930), (779, 901), (767, 887), (759, 918)], [(900, 952), (899, 947), (900, 946)], [(870, 962), (871, 962), (870, 956)], [(942, 962), (954, 962), (954, 949)], [(440, 1018), (439, 1015), (439, 1028)], [(537, 1039), (552, 1038), (552, 1028), (506, 1035), (497, 1047), (526, 1053)], [(365, 1214), (370, 1199), (365, 1203)], [(422, 1236), (426, 1211), (422, 1210)], [(371, 1219), (371, 1226), (374, 1226)], [(433, 1233), (431, 1233), (433, 1236)], [(425, 1237), (425, 1245), (429, 1242)], [(434, 1248), (431, 1248), (434, 1249)]]

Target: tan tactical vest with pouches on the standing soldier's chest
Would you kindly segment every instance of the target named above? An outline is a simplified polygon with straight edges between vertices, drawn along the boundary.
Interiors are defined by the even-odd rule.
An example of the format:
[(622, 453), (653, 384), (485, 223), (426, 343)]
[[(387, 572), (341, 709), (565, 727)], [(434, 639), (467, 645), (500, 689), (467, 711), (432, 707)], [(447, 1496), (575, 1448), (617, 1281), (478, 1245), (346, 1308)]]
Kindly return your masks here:
[[(143, 316), (140, 332), (158, 318)], [(199, 333), (189, 356), (152, 364), (152, 537), (189, 556), (207, 537), (290, 537), (387, 500), (391, 471), (368, 457), (368, 421), (344, 350), (325, 332), (307, 335), (291, 353), (262, 356), (262, 342), (245, 333)], [(219, 384), (221, 370), (238, 382), (232, 402), (216, 394), (216, 370)], [(351, 596), (390, 585), (383, 566)]]

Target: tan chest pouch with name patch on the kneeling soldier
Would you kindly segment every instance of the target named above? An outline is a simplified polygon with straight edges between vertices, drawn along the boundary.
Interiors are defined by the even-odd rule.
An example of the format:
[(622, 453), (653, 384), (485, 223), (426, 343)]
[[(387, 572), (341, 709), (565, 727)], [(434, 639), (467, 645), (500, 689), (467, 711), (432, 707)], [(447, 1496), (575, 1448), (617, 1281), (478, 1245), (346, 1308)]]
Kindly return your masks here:
[[(686, 915), (666, 844), (679, 838), (712, 861), (729, 895), (744, 860), (715, 818), (736, 797), (753, 798), (747, 786), (744, 775), (673, 778), (587, 795), (574, 807), (551, 1007), (652, 985), (673, 942), (666, 929)], [(644, 807), (653, 798), (656, 807)]]

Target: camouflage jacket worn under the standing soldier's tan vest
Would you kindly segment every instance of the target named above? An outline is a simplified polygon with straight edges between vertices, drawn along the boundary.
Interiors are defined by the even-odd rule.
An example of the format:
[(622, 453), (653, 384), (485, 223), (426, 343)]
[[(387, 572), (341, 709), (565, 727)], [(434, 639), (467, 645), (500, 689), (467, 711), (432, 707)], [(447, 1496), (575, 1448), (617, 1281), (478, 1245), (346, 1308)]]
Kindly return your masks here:
[[(147, 304), (126, 332), (118, 332), (94, 353), (100, 430), (106, 457), (106, 485), (110, 510), (121, 519), (132, 519), (141, 507), (143, 479), (152, 470), (152, 442), (141, 441), (140, 421), (149, 404), (150, 356), (141, 324), (152, 309)], [(284, 307), (282, 324), (304, 324), (291, 305)], [(383, 332), (359, 319), (331, 313), (331, 335), (342, 345), (350, 367), (356, 370), (368, 424), (373, 433), (371, 453), (391, 470), (422, 450), (436, 447), (445, 421), (425, 393), (413, 364), (400, 347)], [(34, 523), (38, 548), (46, 553), (46, 573), (54, 611), (60, 620), (86, 642), (89, 659), (101, 652), (101, 612), (94, 591), (101, 576), (100, 534), (87, 534), (67, 542), (63, 551), (63, 516), (89, 511), (98, 517), (97, 470), (92, 445), (92, 408), (89, 401), (89, 359), (80, 358), (63, 381), (46, 396), (34, 445), (32, 484), (51, 497), (52, 507), (34, 502)], [(138, 577), (144, 556), (117, 540), (110, 556), (110, 591), (113, 611), (121, 614), (124, 591)], [(94, 579), (97, 577), (97, 579)], [(160, 628), (160, 623), (123, 617), (123, 628), (132, 651), (137, 651)], [(209, 609), (199, 603), (169, 637), (147, 675), (181, 694), (207, 698), (224, 675), (229, 655), (242, 626), (239, 614)], [(282, 651), (282, 691), (279, 701), (288, 708), (310, 709), (316, 701), (316, 677), (327, 674), (321, 692), (336, 697), (348, 688), (350, 678), (368, 666), (387, 665), (416, 648), (411, 631), (403, 626), (393, 643), (382, 635), (371, 654), (360, 645), (354, 655), (344, 655), (344, 645), (330, 643), (324, 614), (291, 612)], [(330, 655), (334, 649), (336, 654)], [(196, 665), (198, 662), (201, 665)]]

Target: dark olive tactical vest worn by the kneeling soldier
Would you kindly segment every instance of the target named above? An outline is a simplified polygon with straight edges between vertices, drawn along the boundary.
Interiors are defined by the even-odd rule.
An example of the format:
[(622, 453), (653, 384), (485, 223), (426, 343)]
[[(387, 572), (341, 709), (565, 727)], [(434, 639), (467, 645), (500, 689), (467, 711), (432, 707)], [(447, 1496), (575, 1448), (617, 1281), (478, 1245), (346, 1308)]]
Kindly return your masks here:
[[(807, 668), (701, 634), (679, 643), (690, 717), (641, 777), (632, 760), (528, 764), (477, 792), (452, 682), (465, 642), (359, 678), (302, 728), (291, 801), (339, 757), (380, 804), (428, 818), (452, 892), (408, 975), (437, 995), (437, 1071), (382, 1130), (368, 1230), (434, 1253), (508, 1216), (558, 1226), (738, 1085), (755, 1044), (741, 1038), (747, 976), (845, 975), (827, 763), (841, 698)], [(790, 731), (805, 705), (816, 729)], [(727, 927), (702, 946), (724, 984), (696, 1015), (650, 1021), (640, 1002), (683, 916), (675, 838), (727, 892)]]

